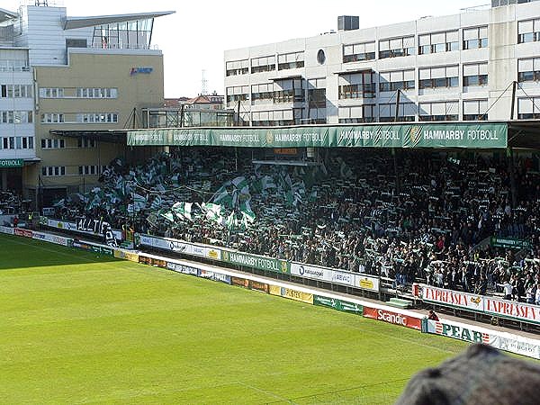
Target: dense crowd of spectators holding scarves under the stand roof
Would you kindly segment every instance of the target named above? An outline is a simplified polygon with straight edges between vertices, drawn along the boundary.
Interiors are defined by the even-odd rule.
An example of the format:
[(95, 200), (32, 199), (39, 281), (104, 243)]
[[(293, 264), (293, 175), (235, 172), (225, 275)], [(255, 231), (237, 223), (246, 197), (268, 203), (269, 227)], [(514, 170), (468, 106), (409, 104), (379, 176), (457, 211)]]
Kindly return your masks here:
[[(136, 215), (122, 212), (132, 193), (114, 211), (100, 205), (93, 215), (108, 217), (113, 228), (131, 222), (142, 232), (381, 275), (396, 287), (425, 281), (540, 303), (540, 175), (534, 157), (517, 158), (513, 175), (504, 155), (419, 150), (401, 150), (396, 158), (384, 150), (331, 150), (324, 165), (308, 169), (254, 166), (249, 159), (238, 164), (227, 149), (161, 156), (152, 165), (166, 170), (144, 189), (164, 184), (164, 205), (211, 201), (227, 180), (277, 171), (302, 183), (302, 198), (291, 204), (279, 191), (251, 191), (257, 220), (233, 231), (209, 220), (170, 224), (152, 216), (150, 200)], [(137, 170), (148, 172), (148, 167)], [(133, 173), (117, 167), (107, 181), (118, 175), (130, 179)], [(178, 187), (168, 193), (172, 177)], [(84, 205), (81, 199), (75, 212)], [(73, 204), (64, 215), (66, 210), (73, 214)], [(491, 243), (492, 236), (523, 243), (504, 247)]]

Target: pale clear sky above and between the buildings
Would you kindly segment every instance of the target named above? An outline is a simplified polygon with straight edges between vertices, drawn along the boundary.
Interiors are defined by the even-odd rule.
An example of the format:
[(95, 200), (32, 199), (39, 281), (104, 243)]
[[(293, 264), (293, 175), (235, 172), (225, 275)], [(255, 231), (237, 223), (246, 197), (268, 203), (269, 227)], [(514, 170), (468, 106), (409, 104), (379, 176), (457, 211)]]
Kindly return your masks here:
[[(26, 0), (27, 1), (27, 0)], [(68, 16), (175, 11), (154, 23), (152, 42), (163, 51), (165, 96), (223, 94), (223, 52), (338, 30), (338, 15), (360, 16), (360, 28), (458, 14), (490, 0), (49, 0)], [(16, 10), (20, 0), (2, 0)]]

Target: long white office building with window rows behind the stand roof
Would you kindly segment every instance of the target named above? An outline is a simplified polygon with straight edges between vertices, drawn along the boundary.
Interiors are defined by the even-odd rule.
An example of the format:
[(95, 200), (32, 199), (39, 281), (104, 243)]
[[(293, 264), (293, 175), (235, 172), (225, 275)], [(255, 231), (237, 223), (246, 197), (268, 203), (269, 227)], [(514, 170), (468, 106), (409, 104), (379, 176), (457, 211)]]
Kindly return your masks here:
[(518, 82), (513, 118), (540, 118), (540, 3), (492, 5), (228, 50), (225, 103), (251, 126), (509, 120)]

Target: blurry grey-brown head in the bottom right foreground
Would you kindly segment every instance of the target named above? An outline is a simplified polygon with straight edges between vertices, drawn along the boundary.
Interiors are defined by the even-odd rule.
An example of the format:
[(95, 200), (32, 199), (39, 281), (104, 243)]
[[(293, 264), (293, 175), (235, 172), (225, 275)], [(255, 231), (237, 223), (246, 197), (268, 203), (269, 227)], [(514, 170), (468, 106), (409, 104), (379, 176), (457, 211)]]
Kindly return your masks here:
[(396, 405), (538, 405), (540, 365), (484, 345), (412, 377)]

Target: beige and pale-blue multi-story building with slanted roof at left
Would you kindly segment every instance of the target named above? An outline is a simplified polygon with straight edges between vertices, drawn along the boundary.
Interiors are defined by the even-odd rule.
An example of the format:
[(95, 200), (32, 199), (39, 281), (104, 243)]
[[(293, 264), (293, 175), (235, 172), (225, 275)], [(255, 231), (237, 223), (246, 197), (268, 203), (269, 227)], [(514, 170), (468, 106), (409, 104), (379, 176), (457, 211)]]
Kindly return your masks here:
[(0, 13), (0, 167), (23, 166), (0, 170), (3, 188), (47, 206), (97, 184), (103, 166), (126, 157), (111, 130), (163, 105), (151, 38), (154, 19), (171, 12), (69, 17), (36, 4)]

